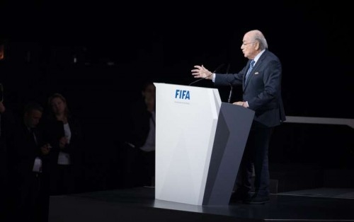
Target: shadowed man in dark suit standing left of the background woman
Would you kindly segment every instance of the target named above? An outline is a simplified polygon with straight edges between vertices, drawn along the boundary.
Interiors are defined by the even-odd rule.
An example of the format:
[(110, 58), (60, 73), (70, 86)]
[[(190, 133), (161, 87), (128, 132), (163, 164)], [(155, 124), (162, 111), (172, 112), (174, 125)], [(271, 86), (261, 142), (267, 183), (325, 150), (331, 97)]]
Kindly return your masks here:
[(43, 109), (37, 103), (25, 105), (18, 118), (0, 104), (3, 120), (8, 124), (8, 170), (13, 209), (11, 221), (47, 222), (49, 210), (50, 144), (42, 140), (38, 123)]

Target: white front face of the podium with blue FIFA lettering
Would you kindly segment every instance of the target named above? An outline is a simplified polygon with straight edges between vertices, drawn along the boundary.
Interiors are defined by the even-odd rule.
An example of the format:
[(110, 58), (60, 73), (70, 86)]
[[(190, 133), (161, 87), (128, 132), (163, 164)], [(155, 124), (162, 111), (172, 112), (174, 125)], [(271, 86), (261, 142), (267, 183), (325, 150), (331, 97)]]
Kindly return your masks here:
[(221, 100), (214, 88), (155, 83), (155, 198), (202, 204)]

